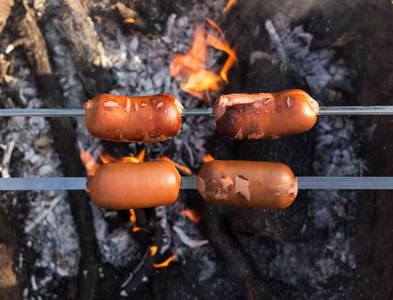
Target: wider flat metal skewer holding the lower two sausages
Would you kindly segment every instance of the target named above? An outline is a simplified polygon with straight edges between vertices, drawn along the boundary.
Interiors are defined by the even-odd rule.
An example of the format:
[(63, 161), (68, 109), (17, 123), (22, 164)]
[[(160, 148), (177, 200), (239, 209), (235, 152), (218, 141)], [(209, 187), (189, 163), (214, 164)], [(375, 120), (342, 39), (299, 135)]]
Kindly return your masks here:
[[(196, 189), (196, 177), (182, 177), (181, 189)], [(393, 177), (298, 177), (301, 190), (393, 190)], [(1, 191), (85, 190), (84, 177), (0, 178)]]

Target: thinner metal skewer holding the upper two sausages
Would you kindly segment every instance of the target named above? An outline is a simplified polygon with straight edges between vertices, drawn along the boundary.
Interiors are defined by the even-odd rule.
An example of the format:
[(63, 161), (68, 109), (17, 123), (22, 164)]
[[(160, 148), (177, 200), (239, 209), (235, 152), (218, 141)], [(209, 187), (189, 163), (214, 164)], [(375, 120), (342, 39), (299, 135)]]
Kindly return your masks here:
[[(80, 117), (84, 109), (0, 109), (0, 117)], [(393, 106), (321, 106), (320, 116), (393, 115)], [(184, 108), (182, 116), (214, 116), (213, 109)]]

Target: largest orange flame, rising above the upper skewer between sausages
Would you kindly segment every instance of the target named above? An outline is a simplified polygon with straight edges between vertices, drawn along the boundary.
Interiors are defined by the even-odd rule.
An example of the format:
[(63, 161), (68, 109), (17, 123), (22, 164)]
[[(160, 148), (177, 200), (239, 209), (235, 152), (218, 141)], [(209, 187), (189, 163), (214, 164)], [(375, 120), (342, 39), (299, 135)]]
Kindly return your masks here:
[[(225, 83), (228, 84), (227, 72), (237, 62), (237, 58), (235, 50), (229, 46), (221, 28), (212, 20), (207, 18), (206, 20), (213, 29), (218, 31), (219, 35), (206, 34), (205, 29), (197, 25), (190, 50), (186, 54), (177, 54), (171, 62), (169, 71), (173, 77), (186, 81), (180, 83), (183, 91), (210, 104), (210, 93), (218, 91)], [(207, 45), (228, 54), (220, 75), (205, 68), (208, 58)]]

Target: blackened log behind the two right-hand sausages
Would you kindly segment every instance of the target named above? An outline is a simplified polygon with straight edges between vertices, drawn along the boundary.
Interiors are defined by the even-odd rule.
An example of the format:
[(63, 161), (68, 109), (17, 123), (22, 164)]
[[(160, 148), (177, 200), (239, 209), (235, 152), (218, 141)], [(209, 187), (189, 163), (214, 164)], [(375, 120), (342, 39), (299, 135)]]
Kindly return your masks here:
[[(244, 92), (278, 92), (302, 88), (301, 81), (284, 64), (263, 52), (254, 52), (246, 68)], [(219, 137), (217, 159), (274, 161), (287, 164), (296, 176), (312, 174), (313, 129), (275, 140), (223, 141)], [(228, 144), (236, 149), (232, 157), (223, 157)], [(224, 146), (222, 146), (224, 145)], [(224, 148), (225, 147), (225, 148)], [(283, 210), (238, 208), (228, 218), (236, 232), (255, 234), (274, 240), (306, 239), (302, 229), (308, 222), (309, 199), (300, 191), (294, 203)]]

